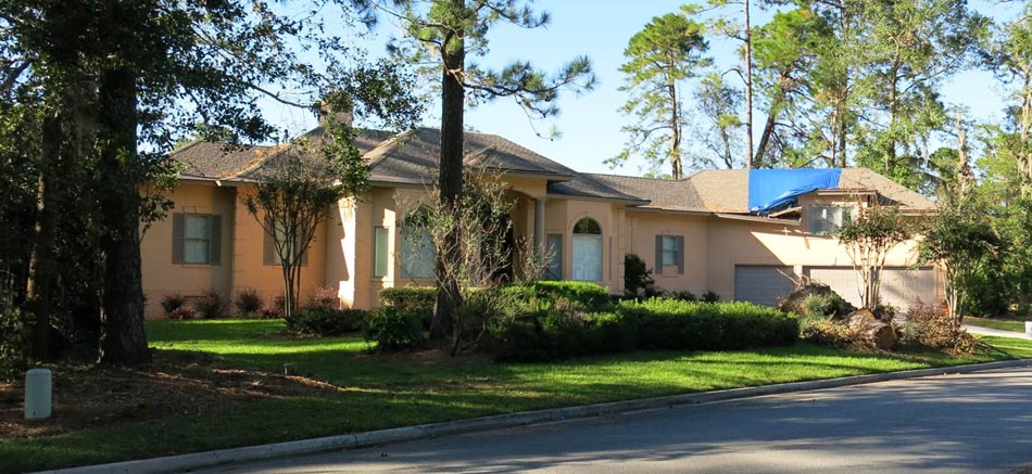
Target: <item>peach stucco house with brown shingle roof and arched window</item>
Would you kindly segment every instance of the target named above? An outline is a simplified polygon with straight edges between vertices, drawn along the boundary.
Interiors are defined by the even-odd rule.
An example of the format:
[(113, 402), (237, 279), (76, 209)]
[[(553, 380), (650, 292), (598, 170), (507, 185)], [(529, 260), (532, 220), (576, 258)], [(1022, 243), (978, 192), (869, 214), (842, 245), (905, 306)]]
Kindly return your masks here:
[[(320, 133), (317, 128), (307, 137)], [(381, 289), (432, 283), (431, 267), (414, 258), (425, 248), (410, 245), (400, 227), (426, 198), (439, 139), (428, 128), (360, 136), (372, 189), (327, 209), (329, 219), (302, 270), (304, 294), (329, 286), (342, 306), (369, 308), (379, 304)], [(625, 255), (637, 254), (667, 291), (712, 290), (726, 300), (773, 304), (806, 277), (858, 303), (849, 256), (828, 231), (871, 200), (914, 216), (935, 207), (864, 168), (843, 169), (836, 185), (756, 215), (748, 209), (747, 170), (704, 170), (667, 181), (578, 172), (493, 134), (467, 132), (466, 149), (467, 166), (498, 172), (508, 183), (515, 234), (550, 248), (550, 278), (592, 281), (614, 293), (624, 290)], [(177, 292), (214, 289), (228, 297), (255, 289), (266, 302), (282, 294), (270, 240), (240, 201), (282, 150), (194, 142), (174, 153), (184, 166), (168, 195), (175, 208), (142, 243), (149, 317), (160, 317), (161, 297)], [(882, 274), (883, 300), (897, 307), (942, 302), (939, 272), (911, 268), (914, 261), (913, 242), (892, 252)]]

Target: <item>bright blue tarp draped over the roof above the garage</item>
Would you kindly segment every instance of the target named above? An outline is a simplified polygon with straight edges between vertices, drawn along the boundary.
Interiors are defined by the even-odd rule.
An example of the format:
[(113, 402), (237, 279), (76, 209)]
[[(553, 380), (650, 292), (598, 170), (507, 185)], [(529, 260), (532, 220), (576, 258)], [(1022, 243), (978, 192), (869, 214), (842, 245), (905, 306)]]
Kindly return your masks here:
[(767, 215), (789, 207), (802, 194), (836, 189), (840, 176), (841, 168), (750, 169), (748, 212)]

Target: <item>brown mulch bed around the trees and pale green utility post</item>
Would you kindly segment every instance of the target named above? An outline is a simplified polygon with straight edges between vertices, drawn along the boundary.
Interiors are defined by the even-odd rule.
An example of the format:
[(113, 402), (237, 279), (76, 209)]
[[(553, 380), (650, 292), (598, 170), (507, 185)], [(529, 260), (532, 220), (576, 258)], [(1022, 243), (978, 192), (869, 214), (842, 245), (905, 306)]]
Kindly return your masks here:
[(0, 384), (0, 438), (53, 435), (172, 415), (199, 414), (251, 400), (343, 390), (297, 375), (213, 367), (196, 355), (155, 351), (146, 368), (47, 367), (53, 371), (53, 415), (24, 419), (24, 388)]

